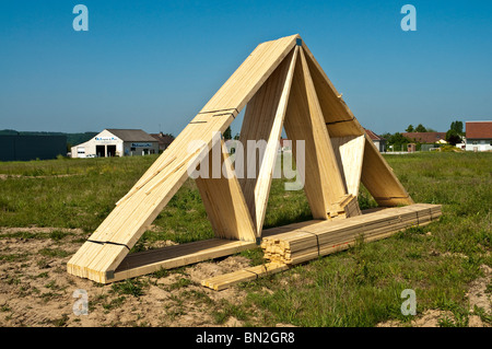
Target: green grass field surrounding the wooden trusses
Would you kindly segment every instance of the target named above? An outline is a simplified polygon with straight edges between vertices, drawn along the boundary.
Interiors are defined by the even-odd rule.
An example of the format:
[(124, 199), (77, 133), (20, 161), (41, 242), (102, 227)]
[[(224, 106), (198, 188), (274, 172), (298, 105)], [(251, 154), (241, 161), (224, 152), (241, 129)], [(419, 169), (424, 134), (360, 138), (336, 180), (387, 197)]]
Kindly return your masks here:
[[(454, 318), (442, 319), (442, 326), (467, 326), (468, 287), (483, 277), (480, 266), (492, 267), (492, 153), (385, 158), (415, 202), (443, 205), (440, 222), (383, 241), (361, 242), (347, 252), (241, 284), (238, 288), (247, 293), (245, 301), (241, 305), (221, 304), (213, 311), (216, 323), (230, 316), (251, 326), (375, 326), (388, 319), (408, 323), (411, 316), (401, 315), (400, 293), (413, 289), (418, 314), (427, 309), (450, 311)], [(79, 228), (89, 237), (155, 159), (0, 163), (0, 226)], [(363, 209), (375, 206), (364, 188), (360, 203)], [(308, 219), (304, 193), (285, 191), (283, 181), (274, 179), (265, 226)], [(163, 240), (186, 243), (213, 236), (190, 179), (154, 225), (132, 251)], [(259, 249), (242, 255), (251, 258), (251, 264), (261, 263)], [(183, 287), (186, 289), (186, 284)], [(488, 292), (491, 290), (488, 284)], [(477, 313), (491, 324), (490, 314), (482, 310)]]

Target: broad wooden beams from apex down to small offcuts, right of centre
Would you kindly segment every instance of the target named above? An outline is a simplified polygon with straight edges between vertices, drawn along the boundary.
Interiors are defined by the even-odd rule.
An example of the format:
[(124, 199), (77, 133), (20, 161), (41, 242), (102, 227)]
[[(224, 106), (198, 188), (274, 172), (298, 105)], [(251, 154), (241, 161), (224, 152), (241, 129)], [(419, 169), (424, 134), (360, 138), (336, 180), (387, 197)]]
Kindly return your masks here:
[[(297, 141), (304, 141), (304, 190), (315, 219), (328, 219), (329, 207), (347, 191), (325, 126), (303, 49), (300, 49), (284, 128), (297, 158)], [(302, 175), (302, 171), (300, 173)]]

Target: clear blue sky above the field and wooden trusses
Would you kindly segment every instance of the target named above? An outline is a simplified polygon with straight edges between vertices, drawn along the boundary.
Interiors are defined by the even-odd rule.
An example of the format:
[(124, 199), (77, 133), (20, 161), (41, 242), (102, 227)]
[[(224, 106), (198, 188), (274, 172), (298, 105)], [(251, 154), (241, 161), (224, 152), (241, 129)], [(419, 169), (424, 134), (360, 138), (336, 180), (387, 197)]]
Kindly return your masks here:
[(258, 44), (298, 33), (364, 127), (446, 131), (492, 119), (491, 20), (470, 0), (0, 1), (0, 129), (177, 136)]

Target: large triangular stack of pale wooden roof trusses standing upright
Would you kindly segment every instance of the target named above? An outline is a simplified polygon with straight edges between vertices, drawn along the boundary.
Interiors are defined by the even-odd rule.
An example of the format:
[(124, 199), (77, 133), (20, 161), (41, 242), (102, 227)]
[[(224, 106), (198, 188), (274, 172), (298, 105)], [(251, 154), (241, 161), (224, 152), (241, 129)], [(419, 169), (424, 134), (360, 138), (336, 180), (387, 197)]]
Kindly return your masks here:
[[(265, 140), (255, 178), (236, 178), (224, 132), (246, 106), (239, 140)], [(72, 256), (68, 272), (107, 283), (256, 246), (284, 127), (305, 141), (304, 190), (314, 219), (360, 214), (362, 182), (379, 206), (413, 203), (300, 35), (260, 44)], [(206, 147), (186, 152), (190, 141)], [(197, 166), (218, 147), (227, 177), (197, 178), (216, 239), (128, 254)], [(215, 148), (216, 149), (216, 148)], [(210, 161), (212, 156), (209, 156)], [(251, 163), (251, 161), (254, 163)]]

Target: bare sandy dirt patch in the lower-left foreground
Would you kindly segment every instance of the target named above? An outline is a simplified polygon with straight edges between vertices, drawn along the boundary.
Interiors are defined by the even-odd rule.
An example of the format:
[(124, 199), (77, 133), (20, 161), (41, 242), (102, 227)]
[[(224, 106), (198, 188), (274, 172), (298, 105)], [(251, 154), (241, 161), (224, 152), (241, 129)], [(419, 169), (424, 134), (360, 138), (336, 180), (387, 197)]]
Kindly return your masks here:
[[(48, 239), (46, 234), (54, 231), (67, 234)], [(31, 233), (30, 237), (12, 237), (24, 232)], [(200, 281), (246, 267), (247, 258), (231, 256), (102, 286), (66, 271), (84, 237), (81, 230), (0, 229), (0, 326), (244, 325), (234, 315), (218, 319), (216, 314), (224, 304), (243, 302), (245, 293), (238, 289), (216, 292), (201, 287)], [(83, 303), (80, 294), (74, 298), (77, 290), (87, 295), (87, 315), (74, 314), (74, 304)]]

